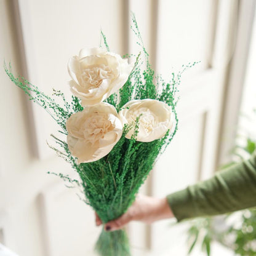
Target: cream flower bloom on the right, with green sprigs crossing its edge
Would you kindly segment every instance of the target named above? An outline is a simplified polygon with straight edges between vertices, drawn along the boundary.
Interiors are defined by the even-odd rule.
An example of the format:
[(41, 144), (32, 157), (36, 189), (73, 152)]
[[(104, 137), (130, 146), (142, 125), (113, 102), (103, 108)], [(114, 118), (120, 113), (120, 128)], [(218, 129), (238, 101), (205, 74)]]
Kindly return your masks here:
[(131, 138), (134, 134), (135, 122), (138, 119), (138, 142), (152, 142), (162, 138), (167, 130), (172, 128), (174, 114), (164, 102), (158, 100), (131, 100), (122, 106), (119, 118), (123, 124), (132, 124), (132, 129), (126, 135)]

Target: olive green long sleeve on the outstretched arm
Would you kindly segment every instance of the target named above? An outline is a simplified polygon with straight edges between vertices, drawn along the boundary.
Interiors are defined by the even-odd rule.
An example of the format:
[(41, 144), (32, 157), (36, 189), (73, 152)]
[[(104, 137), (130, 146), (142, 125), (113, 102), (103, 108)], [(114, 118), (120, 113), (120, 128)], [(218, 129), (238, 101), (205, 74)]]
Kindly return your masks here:
[(256, 153), (214, 177), (167, 196), (178, 222), (256, 206)]

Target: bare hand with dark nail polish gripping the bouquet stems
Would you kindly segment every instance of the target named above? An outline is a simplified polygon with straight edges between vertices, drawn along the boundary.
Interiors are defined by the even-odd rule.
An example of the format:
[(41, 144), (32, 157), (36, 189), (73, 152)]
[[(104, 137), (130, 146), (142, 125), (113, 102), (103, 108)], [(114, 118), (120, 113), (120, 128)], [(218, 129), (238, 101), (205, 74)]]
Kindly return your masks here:
[[(96, 225), (102, 224), (102, 221), (95, 213)], [(162, 220), (164, 218), (172, 218), (174, 214), (170, 209), (170, 206), (166, 198), (153, 198), (150, 196), (144, 196), (143, 194), (137, 194), (137, 197), (121, 217), (116, 220), (111, 220), (105, 224), (106, 231), (119, 230), (132, 220), (138, 220), (150, 224), (156, 220)]]

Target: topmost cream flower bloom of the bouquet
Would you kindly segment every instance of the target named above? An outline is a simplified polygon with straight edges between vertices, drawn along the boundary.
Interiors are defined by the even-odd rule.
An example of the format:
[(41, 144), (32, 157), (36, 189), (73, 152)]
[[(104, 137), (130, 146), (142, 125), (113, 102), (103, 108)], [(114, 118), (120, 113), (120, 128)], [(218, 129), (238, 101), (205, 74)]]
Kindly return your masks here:
[(132, 65), (127, 59), (101, 48), (82, 49), (70, 58), (68, 73), (71, 92), (82, 100), (83, 106), (103, 102), (126, 83)]

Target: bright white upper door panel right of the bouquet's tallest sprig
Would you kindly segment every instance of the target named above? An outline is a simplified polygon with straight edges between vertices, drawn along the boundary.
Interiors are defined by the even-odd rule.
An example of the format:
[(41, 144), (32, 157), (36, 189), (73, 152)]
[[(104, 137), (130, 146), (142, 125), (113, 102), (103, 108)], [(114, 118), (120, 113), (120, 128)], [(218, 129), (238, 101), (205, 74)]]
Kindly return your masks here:
[(188, 62), (201, 61), (185, 76), (206, 68), (211, 7), (204, 0), (159, 1), (157, 67), (165, 78)]

